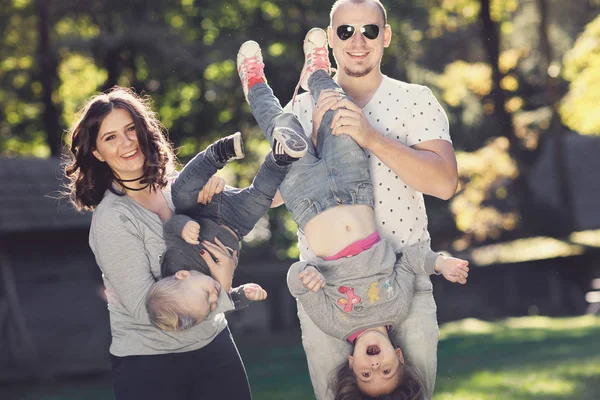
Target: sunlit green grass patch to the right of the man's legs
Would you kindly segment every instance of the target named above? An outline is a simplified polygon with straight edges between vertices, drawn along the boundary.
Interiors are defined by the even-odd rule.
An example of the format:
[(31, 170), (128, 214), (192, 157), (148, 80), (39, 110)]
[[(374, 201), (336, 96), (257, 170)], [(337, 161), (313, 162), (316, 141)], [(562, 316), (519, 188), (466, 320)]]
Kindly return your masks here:
[(446, 324), (434, 400), (600, 398), (600, 318)]

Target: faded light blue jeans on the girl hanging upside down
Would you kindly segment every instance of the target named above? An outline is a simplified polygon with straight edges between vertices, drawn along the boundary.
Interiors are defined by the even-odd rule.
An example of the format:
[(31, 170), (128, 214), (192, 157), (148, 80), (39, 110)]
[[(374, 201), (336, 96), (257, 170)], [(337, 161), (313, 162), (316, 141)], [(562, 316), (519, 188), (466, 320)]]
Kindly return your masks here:
[[(316, 71), (308, 81), (316, 101), (322, 90), (341, 88), (325, 71)], [(252, 113), (265, 136), (272, 136), (275, 125), (304, 133), (294, 114), (284, 113), (273, 92), (264, 83), (248, 93)], [(309, 150), (296, 161), (280, 187), (285, 205), (303, 229), (320, 212), (340, 204), (373, 206), (373, 186), (365, 152), (348, 135), (331, 134), (335, 111), (328, 111), (319, 127), (316, 149), (308, 139)]]

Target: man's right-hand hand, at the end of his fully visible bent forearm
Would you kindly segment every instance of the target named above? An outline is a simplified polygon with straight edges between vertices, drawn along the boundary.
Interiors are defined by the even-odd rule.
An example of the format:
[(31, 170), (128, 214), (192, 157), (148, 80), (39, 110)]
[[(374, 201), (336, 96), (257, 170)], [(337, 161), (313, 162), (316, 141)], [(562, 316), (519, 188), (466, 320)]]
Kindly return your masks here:
[(377, 132), (369, 121), (362, 109), (349, 99), (343, 99), (331, 106), (331, 110), (338, 110), (333, 116), (331, 122), (331, 134), (341, 135), (346, 133), (363, 149), (367, 149), (371, 144)]

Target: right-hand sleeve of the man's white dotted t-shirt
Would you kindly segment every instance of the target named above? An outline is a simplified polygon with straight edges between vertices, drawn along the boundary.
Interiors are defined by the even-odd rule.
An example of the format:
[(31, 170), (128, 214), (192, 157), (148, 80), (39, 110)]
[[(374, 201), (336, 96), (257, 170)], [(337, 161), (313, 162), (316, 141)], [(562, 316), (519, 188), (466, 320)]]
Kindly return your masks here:
[(405, 122), (408, 146), (434, 139), (452, 143), (446, 112), (429, 88), (422, 87), (408, 111)]

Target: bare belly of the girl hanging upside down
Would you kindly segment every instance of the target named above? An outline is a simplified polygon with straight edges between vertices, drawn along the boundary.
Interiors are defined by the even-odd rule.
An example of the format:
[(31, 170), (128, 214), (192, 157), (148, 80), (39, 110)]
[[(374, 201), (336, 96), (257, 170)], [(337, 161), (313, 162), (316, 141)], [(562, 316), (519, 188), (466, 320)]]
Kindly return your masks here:
[(315, 255), (329, 257), (375, 232), (373, 208), (339, 205), (323, 211), (304, 227), (304, 236)]

